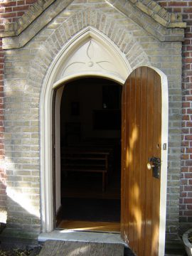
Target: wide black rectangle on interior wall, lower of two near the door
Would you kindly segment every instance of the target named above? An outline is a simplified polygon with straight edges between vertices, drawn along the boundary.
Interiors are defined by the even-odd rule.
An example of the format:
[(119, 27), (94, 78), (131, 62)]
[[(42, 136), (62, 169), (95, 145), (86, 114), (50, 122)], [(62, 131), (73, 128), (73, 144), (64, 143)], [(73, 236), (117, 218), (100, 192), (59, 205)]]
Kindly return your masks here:
[(121, 129), (121, 110), (93, 110), (93, 129)]

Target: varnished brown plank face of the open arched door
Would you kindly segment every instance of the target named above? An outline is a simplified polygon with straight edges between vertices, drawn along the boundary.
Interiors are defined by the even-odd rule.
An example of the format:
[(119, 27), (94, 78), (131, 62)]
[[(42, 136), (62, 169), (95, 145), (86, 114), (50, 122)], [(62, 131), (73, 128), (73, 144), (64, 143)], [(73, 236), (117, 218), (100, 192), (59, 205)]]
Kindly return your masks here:
[(142, 67), (122, 91), (121, 232), (137, 256), (158, 255), (160, 177), (146, 167), (152, 156), (161, 158), (161, 79)]

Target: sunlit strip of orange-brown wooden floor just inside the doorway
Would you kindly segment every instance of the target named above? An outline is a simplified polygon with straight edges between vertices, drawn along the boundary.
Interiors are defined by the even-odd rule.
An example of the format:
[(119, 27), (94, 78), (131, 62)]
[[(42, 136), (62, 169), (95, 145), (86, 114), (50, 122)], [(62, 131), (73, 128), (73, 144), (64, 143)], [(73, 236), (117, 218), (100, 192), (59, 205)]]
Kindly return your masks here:
[(62, 220), (58, 228), (82, 231), (97, 232), (120, 232), (120, 223), (118, 222), (97, 222), (87, 220)]

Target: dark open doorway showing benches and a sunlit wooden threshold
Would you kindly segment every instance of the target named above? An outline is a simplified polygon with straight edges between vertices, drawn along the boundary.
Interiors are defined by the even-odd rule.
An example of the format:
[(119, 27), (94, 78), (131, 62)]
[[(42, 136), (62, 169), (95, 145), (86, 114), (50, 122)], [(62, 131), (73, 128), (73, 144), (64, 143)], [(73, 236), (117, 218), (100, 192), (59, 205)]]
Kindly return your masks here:
[(60, 197), (56, 227), (120, 231), (122, 86), (68, 82), (60, 102)]

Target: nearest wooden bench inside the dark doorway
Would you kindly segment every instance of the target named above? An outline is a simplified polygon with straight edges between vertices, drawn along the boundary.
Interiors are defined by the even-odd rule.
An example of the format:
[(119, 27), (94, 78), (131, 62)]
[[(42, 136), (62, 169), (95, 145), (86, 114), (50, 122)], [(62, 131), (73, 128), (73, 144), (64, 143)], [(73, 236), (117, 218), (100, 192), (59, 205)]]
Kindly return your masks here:
[(65, 147), (61, 160), (63, 171), (91, 172), (102, 174), (102, 191), (107, 186), (112, 149), (90, 149), (87, 147)]

